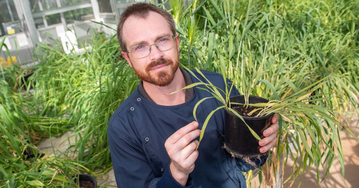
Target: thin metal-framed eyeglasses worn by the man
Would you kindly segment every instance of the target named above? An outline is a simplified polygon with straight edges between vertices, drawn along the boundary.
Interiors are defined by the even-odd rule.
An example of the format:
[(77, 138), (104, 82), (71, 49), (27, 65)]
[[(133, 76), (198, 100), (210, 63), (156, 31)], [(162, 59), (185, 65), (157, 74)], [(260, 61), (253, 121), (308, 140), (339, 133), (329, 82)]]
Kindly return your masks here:
[(131, 53), (132, 57), (135, 59), (140, 59), (148, 56), (151, 52), (151, 45), (155, 45), (157, 49), (160, 51), (166, 51), (174, 47), (174, 36), (173, 35), (167, 35), (163, 38), (158, 39), (153, 44), (140, 44), (135, 45), (134, 47), (131, 47), (128, 53)]

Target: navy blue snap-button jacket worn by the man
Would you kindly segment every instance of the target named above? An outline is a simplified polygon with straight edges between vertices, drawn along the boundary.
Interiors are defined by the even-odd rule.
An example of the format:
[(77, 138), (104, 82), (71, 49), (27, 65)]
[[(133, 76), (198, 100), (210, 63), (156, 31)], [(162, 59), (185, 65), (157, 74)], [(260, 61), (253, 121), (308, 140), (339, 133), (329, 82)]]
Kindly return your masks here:
[[(194, 71), (202, 79), (200, 74)], [(217, 87), (224, 90), (222, 75), (201, 71)], [(191, 75), (192, 82), (198, 80)], [(204, 86), (200, 86), (204, 87)], [(232, 96), (239, 95), (234, 88)], [(108, 142), (117, 186), (127, 187), (183, 187), (173, 179), (169, 171), (171, 162), (164, 142), (181, 127), (194, 121), (195, 104), (204, 97), (211, 97), (207, 91), (195, 88), (194, 97), (183, 104), (162, 106), (146, 100), (137, 89), (122, 102), (108, 123)], [(198, 129), (202, 128), (208, 114), (222, 106), (215, 98), (201, 103), (197, 109)], [(224, 143), (224, 110), (211, 117), (204, 137), (199, 145), (199, 156), (195, 168), (190, 173), (186, 187), (246, 187), (242, 172), (251, 165), (242, 159), (232, 158)], [(197, 138), (198, 140), (199, 138)], [(261, 160), (253, 159), (263, 165), (267, 156)]]

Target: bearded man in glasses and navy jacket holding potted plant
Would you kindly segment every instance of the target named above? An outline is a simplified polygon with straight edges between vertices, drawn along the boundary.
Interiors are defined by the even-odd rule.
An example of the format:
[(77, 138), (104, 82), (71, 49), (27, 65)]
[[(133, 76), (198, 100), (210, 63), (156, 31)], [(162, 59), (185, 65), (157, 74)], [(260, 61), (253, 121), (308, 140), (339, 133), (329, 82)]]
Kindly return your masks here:
[[(172, 16), (156, 6), (139, 3), (121, 15), (117, 28), (122, 56), (141, 79), (136, 90), (118, 107), (108, 124), (108, 141), (118, 187), (245, 187), (242, 171), (250, 164), (232, 158), (223, 148), (224, 111), (211, 117), (196, 150), (201, 126), (220, 104), (198, 88), (173, 91), (197, 79), (179, 68), (179, 36)], [(203, 71), (214, 85), (224, 88), (220, 74)], [(199, 74), (198, 77), (201, 77)], [(222, 80), (222, 82), (221, 82)], [(231, 95), (238, 95), (233, 90)], [(278, 116), (264, 131), (260, 152), (276, 143)], [(263, 165), (267, 155), (252, 160)]]

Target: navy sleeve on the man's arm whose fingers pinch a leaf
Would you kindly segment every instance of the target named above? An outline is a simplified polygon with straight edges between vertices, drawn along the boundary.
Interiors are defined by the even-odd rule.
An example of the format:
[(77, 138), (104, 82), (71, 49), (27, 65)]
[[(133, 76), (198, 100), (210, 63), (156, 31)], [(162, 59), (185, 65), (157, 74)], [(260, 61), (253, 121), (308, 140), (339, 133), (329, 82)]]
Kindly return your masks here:
[[(107, 132), (118, 188), (184, 188), (172, 177), (169, 166), (165, 169), (162, 177), (155, 178), (142, 147), (132, 141), (129, 136), (112, 129), (110, 125)], [(186, 188), (192, 186), (192, 178), (188, 178)]]

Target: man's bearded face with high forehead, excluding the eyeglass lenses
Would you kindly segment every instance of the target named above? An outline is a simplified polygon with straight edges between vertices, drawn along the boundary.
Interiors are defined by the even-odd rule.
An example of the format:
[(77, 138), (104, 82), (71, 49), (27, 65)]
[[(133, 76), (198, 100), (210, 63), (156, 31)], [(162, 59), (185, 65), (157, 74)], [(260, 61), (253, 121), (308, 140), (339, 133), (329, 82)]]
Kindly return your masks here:
[[(153, 11), (145, 19), (130, 16), (123, 24), (122, 37), (127, 50), (139, 44), (153, 44), (167, 35), (172, 35), (167, 21)], [(122, 56), (141, 80), (156, 86), (167, 86), (172, 82), (179, 66), (179, 40), (176, 35), (174, 47), (166, 51), (160, 51), (155, 45), (151, 45), (150, 54), (144, 58), (135, 59), (126, 52), (122, 52)]]

